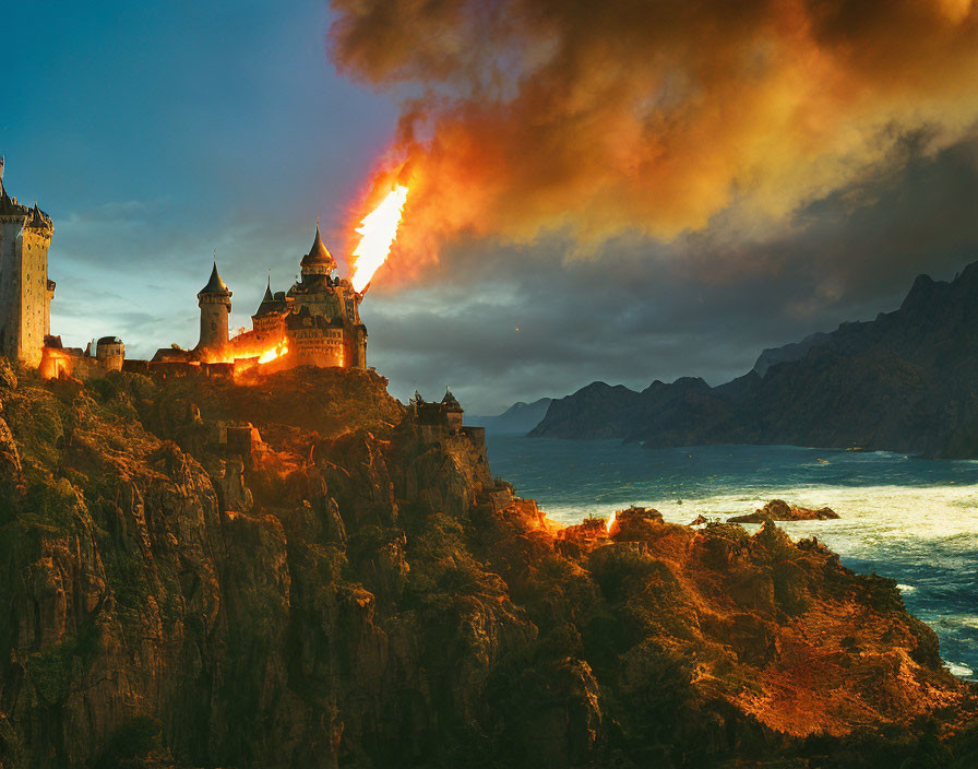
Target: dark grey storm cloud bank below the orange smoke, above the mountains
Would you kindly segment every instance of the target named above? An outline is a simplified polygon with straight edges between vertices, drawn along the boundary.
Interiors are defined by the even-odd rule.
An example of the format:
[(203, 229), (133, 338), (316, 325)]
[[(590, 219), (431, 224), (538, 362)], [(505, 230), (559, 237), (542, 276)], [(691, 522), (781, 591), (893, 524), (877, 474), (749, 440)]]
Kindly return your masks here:
[(918, 273), (950, 279), (978, 259), (978, 140), (926, 146), (902, 138), (898, 164), (763, 236), (717, 221), (569, 261), (565, 240), (456, 247), (414, 288), (380, 280), (368, 294), (372, 362), (402, 397), (451, 384), (489, 413), (593, 380), (720, 383), (766, 346), (895, 309)]

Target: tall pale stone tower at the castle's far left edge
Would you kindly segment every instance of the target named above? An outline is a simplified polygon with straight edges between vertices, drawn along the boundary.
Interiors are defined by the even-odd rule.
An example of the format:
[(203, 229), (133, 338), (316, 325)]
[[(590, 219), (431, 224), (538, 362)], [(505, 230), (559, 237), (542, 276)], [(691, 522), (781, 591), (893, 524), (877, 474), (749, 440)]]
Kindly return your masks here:
[(20, 205), (3, 188), (0, 158), (0, 353), (40, 365), (50, 333), (55, 283), (48, 280), (48, 247), (55, 226), (37, 204)]

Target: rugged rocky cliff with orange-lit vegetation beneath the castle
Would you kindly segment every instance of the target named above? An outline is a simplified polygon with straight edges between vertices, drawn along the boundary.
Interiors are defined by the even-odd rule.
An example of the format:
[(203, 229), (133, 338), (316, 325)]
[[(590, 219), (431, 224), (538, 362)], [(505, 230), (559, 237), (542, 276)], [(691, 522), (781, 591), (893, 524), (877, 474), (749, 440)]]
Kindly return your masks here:
[(2, 362), (0, 406), (3, 769), (975, 755), (890, 580), (773, 525), (558, 530), (375, 375)]

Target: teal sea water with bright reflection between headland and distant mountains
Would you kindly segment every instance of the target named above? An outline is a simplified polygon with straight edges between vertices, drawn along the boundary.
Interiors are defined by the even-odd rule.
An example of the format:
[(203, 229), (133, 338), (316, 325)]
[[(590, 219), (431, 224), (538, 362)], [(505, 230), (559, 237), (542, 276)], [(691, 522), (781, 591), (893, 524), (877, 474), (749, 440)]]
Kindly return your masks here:
[(488, 446), (493, 473), (562, 523), (630, 505), (676, 523), (753, 512), (774, 498), (831, 507), (839, 520), (779, 525), (796, 539), (818, 536), (855, 571), (895, 579), (907, 608), (937, 631), (949, 670), (978, 674), (978, 461), (491, 434)]

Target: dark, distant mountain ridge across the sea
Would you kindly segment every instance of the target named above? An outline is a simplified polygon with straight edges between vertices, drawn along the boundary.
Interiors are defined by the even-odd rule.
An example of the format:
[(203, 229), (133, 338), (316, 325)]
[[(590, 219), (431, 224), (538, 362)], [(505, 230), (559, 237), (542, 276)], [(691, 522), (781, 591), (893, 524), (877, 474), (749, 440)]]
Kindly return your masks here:
[(755, 367), (715, 388), (700, 379), (642, 392), (592, 384), (553, 401), (530, 435), (976, 457), (978, 263), (950, 283), (921, 275), (899, 309), (766, 351), (759, 365), (763, 377)]

